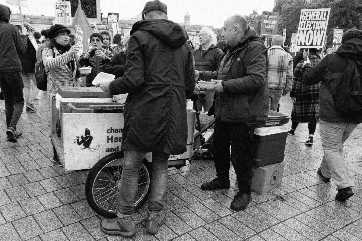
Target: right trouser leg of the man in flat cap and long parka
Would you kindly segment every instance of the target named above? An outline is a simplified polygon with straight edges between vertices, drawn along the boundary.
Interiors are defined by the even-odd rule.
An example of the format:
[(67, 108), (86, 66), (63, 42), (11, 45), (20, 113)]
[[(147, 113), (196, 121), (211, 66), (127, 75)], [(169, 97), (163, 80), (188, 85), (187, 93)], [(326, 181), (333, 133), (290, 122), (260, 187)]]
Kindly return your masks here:
[(148, 210), (154, 213), (161, 212), (166, 197), (168, 183), (168, 158), (165, 152), (152, 152), (152, 184), (148, 196)]

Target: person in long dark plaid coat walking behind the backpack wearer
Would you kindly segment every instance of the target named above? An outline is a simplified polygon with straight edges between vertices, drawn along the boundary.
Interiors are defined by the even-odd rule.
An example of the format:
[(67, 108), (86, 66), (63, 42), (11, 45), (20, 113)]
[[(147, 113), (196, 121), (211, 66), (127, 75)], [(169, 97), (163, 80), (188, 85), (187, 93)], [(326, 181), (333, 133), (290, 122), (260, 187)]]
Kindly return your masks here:
[[(316, 56), (317, 49), (309, 49), (309, 60), (311, 62), (311, 67), (316, 66), (320, 59)], [(305, 49), (303, 56), (304, 60), (307, 59), (308, 50)], [(319, 87), (320, 83), (316, 85), (307, 86), (303, 82), (302, 77), (302, 68), (303, 61), (300, 61), (294, 70), (294, 76), (292, 81), (292, 88), (290, 91), (290, 97), (292, 99), (293, 109), (292, 109), (292, 127), (289, 130), (289, 135), (294, 135), (295, 129), (299, 123), (308, 123), (308, 132), (309, 137), (305, 142), (306, 145), (313, 145), (313, 136), (317, 126), (318, 111), (319, 111)]]

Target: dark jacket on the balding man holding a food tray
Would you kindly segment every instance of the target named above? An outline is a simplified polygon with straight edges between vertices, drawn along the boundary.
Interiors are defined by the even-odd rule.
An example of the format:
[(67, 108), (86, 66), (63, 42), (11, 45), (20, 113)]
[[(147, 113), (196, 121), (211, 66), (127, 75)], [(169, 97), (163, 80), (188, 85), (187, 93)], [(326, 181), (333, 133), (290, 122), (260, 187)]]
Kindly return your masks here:
[[(266, 80), (265, 37), (249, 27), (245, 38), (224, 55), (216, 73), (223, 80), (224, 92), (216, 93), (217, 120), (256, 124), (266, 120), (269, 110), (269, 89)], [(215, 72), (201, 71), (203, 79)]]

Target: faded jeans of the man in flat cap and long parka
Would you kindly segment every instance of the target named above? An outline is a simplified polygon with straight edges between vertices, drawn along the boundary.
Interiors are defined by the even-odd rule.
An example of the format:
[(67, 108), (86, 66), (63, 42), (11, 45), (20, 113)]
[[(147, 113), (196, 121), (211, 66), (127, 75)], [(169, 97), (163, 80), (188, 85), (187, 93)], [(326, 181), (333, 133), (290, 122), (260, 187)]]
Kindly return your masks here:
[[(135, 212), (134, 200), (138, 192), (138, 172), (145, 152), (125, 150), (121, 185), (119, 187), (118, 216)], [(166, 197), (168, 182), (168, 158), (164, 152), (152, 152), (151, 193), (148, 196), (148, 210), (161, 212)]]

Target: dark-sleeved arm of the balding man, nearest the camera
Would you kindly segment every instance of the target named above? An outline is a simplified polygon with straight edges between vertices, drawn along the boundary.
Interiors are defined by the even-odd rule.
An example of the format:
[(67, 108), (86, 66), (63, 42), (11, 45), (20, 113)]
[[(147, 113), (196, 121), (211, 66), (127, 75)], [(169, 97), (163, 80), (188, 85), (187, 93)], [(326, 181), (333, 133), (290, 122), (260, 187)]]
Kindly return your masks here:
[(263, 44), (253, 44), (245, 55), (245, 76), (223, 81), (224, 91), (242, 93), (260, 89), (266, 79), (266, 55), (267, 48)]

